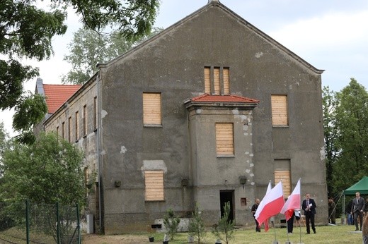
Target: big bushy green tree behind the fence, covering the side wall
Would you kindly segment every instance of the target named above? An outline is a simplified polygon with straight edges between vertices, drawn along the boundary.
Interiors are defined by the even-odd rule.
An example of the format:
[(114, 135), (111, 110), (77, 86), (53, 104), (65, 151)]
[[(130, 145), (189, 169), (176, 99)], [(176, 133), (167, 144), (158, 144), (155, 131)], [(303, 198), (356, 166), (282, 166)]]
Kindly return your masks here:
[(32, 145), (13, 142), (2, 154), (0, 200), (85, 205), (84, 154), (54, 133)]

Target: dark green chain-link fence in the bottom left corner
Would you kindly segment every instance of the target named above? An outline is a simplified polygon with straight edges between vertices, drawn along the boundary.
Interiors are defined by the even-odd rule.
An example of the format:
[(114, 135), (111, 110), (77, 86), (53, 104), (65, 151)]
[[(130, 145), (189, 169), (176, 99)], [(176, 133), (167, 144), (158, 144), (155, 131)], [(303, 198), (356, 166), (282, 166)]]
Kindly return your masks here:
[(78, 206), (0, 202), (0, 243), (81, 243)]

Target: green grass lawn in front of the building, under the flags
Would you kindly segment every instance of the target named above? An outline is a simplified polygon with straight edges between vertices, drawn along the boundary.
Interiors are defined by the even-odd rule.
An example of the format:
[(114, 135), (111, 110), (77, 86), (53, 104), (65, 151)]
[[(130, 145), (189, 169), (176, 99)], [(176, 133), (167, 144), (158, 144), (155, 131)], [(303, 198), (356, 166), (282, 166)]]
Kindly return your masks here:
[[(339, 226), (316, 226), (317, 233), (313, 232), (309, 235), (306, 234), (306, 228), (301, 226), (301, 228), (294, 227), (294, 233), (289, 235), (289, 241), (291, 243), (362, 243), (362, 233), (352, 233), (355, 230), (355, 226), (339, 225)], [(276, 233), (276, 236), (275, 236)], [(301, 233), (301, 235), (299, 235)], [(162, 243), (163, 233), (140, 233), (137, 235), (122, 235), (130, 236), (130, 243), (149, 243), (149, 236), (154, 236), (154, 243)], [(140, 242), (134, 241), (134, 236), (141, 238)], [(146, 238), (142, 238), (146, 236)], [(101, 236), (102, 237), (102, 236)], [(252, 244), (263, 244), (263, 243), (273, 243), (274, 240), (278, 240), (280, 244), (287, 242), (287, 229), (286, 228), (270, 228), (268, 232), (262, 231), (255, 232), (253, 228), (250, 230), (237, 230), (234, 234), (234, 238), (229, 241), (229, 243), (241, 244), (241, 243), (252, 243)], [(128, 242), (128, 243), (129, 243)], [(207, 232), (205, 240), (201, 243), (209, 244), (215, 243), (216, 238), (212, 233)], [(95, 242), (100, 243), (100, 242)], [(109, 244), (110, 241), (103, 241), (101, 243)], [(111, 242), (112, 243), (112, 242)], [(125, 242), (120, 242), (125, 243)], [(188, 233), (178, 233), (178, 236), (174, 240), (169, 241), (170, 244), (174, 243), (188, 243)], [(222, 240), (222, 244), (226, 243)]]

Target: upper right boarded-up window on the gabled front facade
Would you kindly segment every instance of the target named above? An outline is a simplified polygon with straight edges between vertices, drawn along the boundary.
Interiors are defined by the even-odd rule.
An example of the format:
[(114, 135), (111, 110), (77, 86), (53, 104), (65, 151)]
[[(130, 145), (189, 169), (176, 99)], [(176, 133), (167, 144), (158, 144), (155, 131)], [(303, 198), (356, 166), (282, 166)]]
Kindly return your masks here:
[(272, 95), (272, 126), (287, 126), (287, 96)]

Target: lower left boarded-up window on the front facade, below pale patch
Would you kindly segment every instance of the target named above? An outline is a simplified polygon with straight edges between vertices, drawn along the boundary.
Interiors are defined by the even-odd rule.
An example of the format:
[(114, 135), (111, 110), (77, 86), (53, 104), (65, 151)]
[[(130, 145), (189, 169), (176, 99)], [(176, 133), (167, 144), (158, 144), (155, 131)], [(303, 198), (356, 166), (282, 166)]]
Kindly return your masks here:
[(163, 171), (144, 171), (144, 184), (146, 187), (146, 201), (163, 201)]

